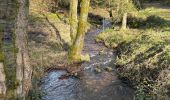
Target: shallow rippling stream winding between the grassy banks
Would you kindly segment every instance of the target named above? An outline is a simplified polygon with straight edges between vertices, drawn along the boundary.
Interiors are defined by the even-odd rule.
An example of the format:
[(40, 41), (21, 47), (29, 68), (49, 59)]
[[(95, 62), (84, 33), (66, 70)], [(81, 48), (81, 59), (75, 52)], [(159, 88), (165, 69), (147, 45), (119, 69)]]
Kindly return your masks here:
[[(105, 21), (103, 25), (109, 27), (111, 24)], [(50, 71), (40, 86), (45, 93), (42, 100), (133, 100), (133, 89), (117, 77), (115, 52), (95, 42), (95, 36), (101, 31), (100, 28), (91, 29), (86, 34), (83, 54), (88, 53), (91, 60), (81, 65), (81, 78), (60, 79), (67, 73), (65, 70)], [(112, 69), (107, 71), (108, 67)]]

